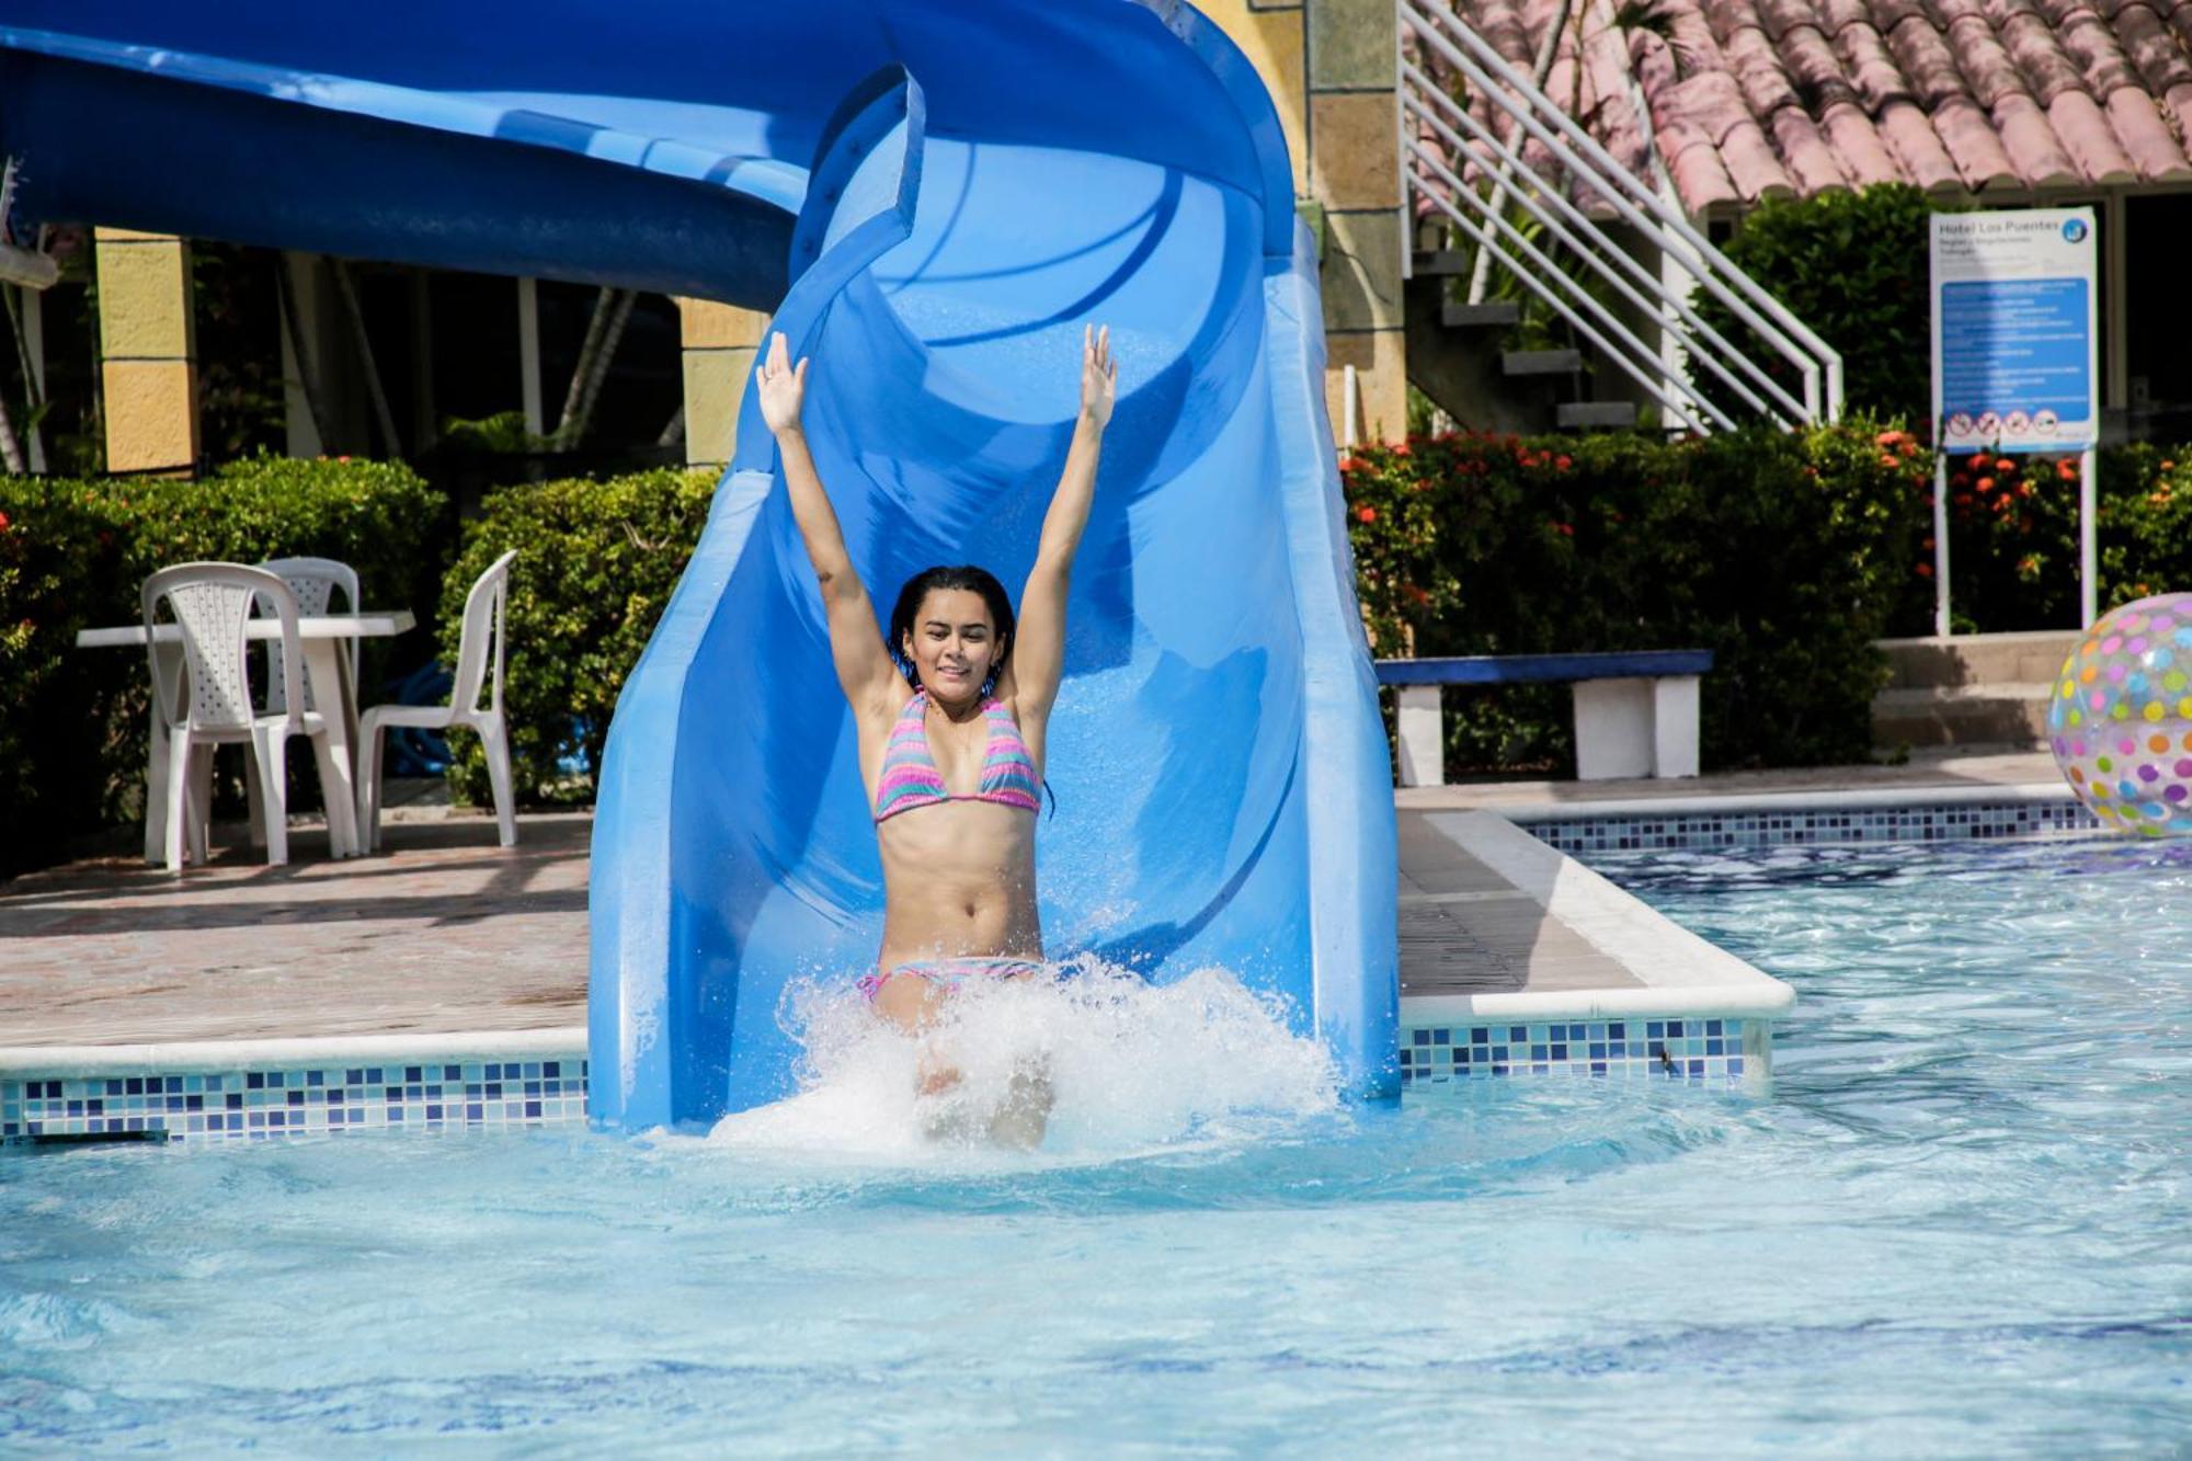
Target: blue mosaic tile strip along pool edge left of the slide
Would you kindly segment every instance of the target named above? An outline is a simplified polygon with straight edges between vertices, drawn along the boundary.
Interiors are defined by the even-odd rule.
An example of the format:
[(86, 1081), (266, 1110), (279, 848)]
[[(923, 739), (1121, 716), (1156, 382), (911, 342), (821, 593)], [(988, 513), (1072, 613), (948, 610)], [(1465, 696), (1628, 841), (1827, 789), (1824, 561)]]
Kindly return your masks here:
[(0, 1079), (0, 1145), (263, 1141), (585, 1121), (583, 1060)]

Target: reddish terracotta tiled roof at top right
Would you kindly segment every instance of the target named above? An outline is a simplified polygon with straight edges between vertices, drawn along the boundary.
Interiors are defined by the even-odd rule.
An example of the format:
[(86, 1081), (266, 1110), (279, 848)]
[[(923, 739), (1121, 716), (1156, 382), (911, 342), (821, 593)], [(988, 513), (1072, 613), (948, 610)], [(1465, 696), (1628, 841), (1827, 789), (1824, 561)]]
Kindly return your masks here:
[[(1548, 92), (1640, 178), (1655, 149), (1692, 211), (2192, 182), (2192, 0), (1651, 2), (1659, 22), (1624, 31), (1616, 0), (1576, 0)], [(1458, 11), (1528, 70), (1559, 2)]]

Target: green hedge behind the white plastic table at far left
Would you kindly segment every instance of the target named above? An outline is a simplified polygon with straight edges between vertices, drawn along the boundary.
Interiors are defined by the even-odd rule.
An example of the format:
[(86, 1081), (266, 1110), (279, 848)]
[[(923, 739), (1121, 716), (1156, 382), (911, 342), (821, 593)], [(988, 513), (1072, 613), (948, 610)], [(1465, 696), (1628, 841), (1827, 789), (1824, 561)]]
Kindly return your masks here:
[[(9, 825), (0, 875), (53, 862), (70, 834), (142, 816), (145, 656), (77, 649), (75, 636), (85, 625), (138, 621), (147, 575), (195, 559), (338, 557), (357, 568), (368, 605), (410, 605), (423, 621), (441, 577), (430, 546), (445, 535), (441, 496), (386, 463), (259, 456), (202, 483), (0, 476), (0, 807)], [(410, 652), (421, 654), (421, 643)]]

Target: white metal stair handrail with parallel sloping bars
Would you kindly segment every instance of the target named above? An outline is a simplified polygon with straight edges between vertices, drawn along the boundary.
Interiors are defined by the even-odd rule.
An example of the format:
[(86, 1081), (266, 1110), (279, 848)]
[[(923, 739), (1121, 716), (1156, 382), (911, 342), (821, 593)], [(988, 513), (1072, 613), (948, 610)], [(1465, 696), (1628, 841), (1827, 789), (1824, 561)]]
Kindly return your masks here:
[[(1664, 257), (1672, 259), (1686, 274), (1690, 274), (1690, 279), (1694, 279), (1701, 287), (1705, 287), (1738, 320), (1749, 325), (1760, 336), (1760, 340), (1765, 340), (1778, 355), (1782, 355), (1791, 366), (1795, 366), (1804, 380), (1804, 401), (1802, 406), (1797, 406), (1795, 397), (1789, 395), (1780, 386), (1780, 382), (1773, 382), (1773, 377), (1767, 371), (1762, 371), (1743, 351), (1734, 349), (1734, 344), (1729, 344), (1725, 336), (1703, 325), (1703, 320), (1697, 318), (1697, 314), (1688, 307), (1686, 301), (1668, 292), (1664, 283), (1651, 281), (1653, 292), (1666, 305), (1675, 307), (1683, 325), (1692, 327), (1675, 331), (1692, 360), (1712, 369), (1716, 375), (1721, 375), (1729, 386), (1736, 386), (1740, 393), (1740, 386), (1732, 377), (1732, 371), (1721, 362), (1721, 358), (1725, 355), (1751, 380), (1760, 382), (1773, 397), (1784, 401), (1802, 419), (1819, 421), (1819, 419), (1835, 419), (1841, 415), (1841, 355), (1830, 344), (1826, 344), (1815, 331), (1811, 331), (1800, 318), (1795, 318), (1795, 314), (1791, 314), (1786, 305), (1782, 305), (1762, 287), (1758, 287), (1758, 283), (1749, 279), (1743, 270), (1738, 270), (1719, 248), (1712, 246), (1710, 239), (1697, 233), (1697, 228), (1692, 228), (1690, 222), (1681, 217), (1677, 208), (1672, 208), (1655, 191), (1635, 180), (1620, 162), (1613, 160), (1611, 154), (1607, 154), (1605, 147), (1600, 147), (1587, 132), (1583, 132), (1583, 127), (1578, 127), (1550, 97), (1545, 97), (1537, 86), (1532, 86), (1512, 66), (1508, 66), (1508, 61), (1497, 50), (1493, 50), (1491, 44), (1484, 42), (1484, 37), (1480, 37), (1466, 22), (1462, 22), (1447, 4), (1442, 4), (1440, 0), (1401, 0), (1398, 9), (1401, 9), (1401, 22), (1407, 24), (1418, 37), (1423, 37), (1425, 44), (1438, 50), (1438, 55), (1442, 55), (1447, 61), (1460, 68), (1460, 72), (1480, 90), (1480, 94), (1486, 101), (1491, 101), (1493, 105), (1502, 107), (1508, 116), (1512, 116), (1523, 127), (1523, 132), (1528, 132), (1554, 158), (1559, 158), (1559, 162), (1565, 165), (1567, 171), (1578, 182), (1587, 184), (1594, 193), (1598, 193), (1613, 208), (1613, 213), (1622, 217), (1622, 222), (1657, 239)], [(1469, 53), (1473, 55), (1464, 55), (1462, 46), (1466, 46)], [(1466, 116), (1462, 107), (1455, 107), (1453, 99), (1447, 97), (1436, 83), (1431, 83), (1429, 77), (1425, 77), (1414, 66), (1407, 66), (1405, 61), (1403, 70), (1407, 72), (1407, 81), (1420, 94), (1438, 97), (1442, 103), (1447, 103), (1449, 112), (1458, 112), (1464, 118), (1464, 123), (1473, 134), (1484, 132), (1482, 123), (1477, 123), (1473, 116)], [(1416, 101), (1416, 112), (1429, 118), (1434, 127), (1440, 121), (1420, 101)], [(1543, 114), (1545, 121), (1541, 121), (1539, 114)], [(1458, 138), (1451, 136), (1451, 129), (1447, 129), (1447, 136), (1464, 154), (1482, 162), (1482, 156), (1473, 145), (1462, 145)], [(1499, 138), (1495, 136), (1488, 140), (1491, 147), (1502, 158), (1506, 158), (1512, 165), (1521, 162), (1519, 156), (1515, 156), (1515, 149), (1510, 149), (1506, 143), (1499, 143)], [(1423, 154), (1423, 149), (1414, 143), (1409, 143), (1403, 149), (1403, 156), (1409, 154), (1429, 160), (1434, 167), (1438, 167), (1438, 171), (1447, 171), (1442, 165), (1436, 162), (1436, 158), (1427, 158), (1427, 154)], [(1453, 208), (1449, 200), (1440, 197), (1436, 189), (1425, 186), (1429, 178), (1425, 178), (1416, 169), (1403, 169), (1403, 171), (1407, 173), (1409, 182), (1416, 184), (1416, 189), (1420, 189), (1423, 195), (1427, 195), (1434, 204), (1440, 204), (1440, 208), (1449, 213), (1458, 224), (1462, 224), (1471, 233), (1471, 237), (1477, 237), (1477, 230), (1471, 224), (1466, 224), (1466, 219), (1460, 217), (1458, 208)], [(1602, 237), (1598, 224), (1589, 222), (1587, 217), (1583, 217), (1580, 211), (1567, 204), (1567, 200), (1561, 195), (1561, 189), (1548, 186), (1545, 180), (1534, 169), (1526, 171), (1530, 171), (1530, 178), (1541, 193), (1545, 193), (1548, 197), (1561, 197), (1565, 211), (1572, 217), (1576, 217), (1587, 233), (1598, 235), (1607, 254), (1626, 259), (1626, 254), (1622, 254), (1618, 246), (1613, 246)], [(1453, 180), (1451, 171), (1447, 171), (1447, 178)], [(1460, 186), (1458, 191), (1469, 193), (1473, 202), (1484, 202), (1475, 195), (1475, 189)], [(1512, 195), (1521, 197), (1521, 191), (1517, 189)], [(1543, 213), (1534, 208), (1532, 213), (1541, 222), (1552, 226), (1552, 222), (1545, 219)], [(1679, 248), (1675, 244), (1679, 244)], [(1569, 241), (1569, 248), (1576, 248), (1576, 244)], [(1591, 250), (1576, 248), (1576, 252), (1594, 257)], [(1607, 270), (1600, 265), (1600, 272), (1605, 274)], [(1517, 276), (1523, 279), (1530, 287), (1534, 287), (1541, 296), (1545, 296), (1548, 303), (1554, 303), (1543, 281), (1530, 276), (1523, 270), (1517, 270)], [(1664, 327), (1672, 327), (1672, 322), (1666, 318), (1664, 312), (1655, 309), (1653, 314), (1655, 318), (1659, 318)], [(1699, 340), (1699, 336), (1703, 336), (1703, 340)], [(1710, 342), (1716, 349), (1705, 349), (1705, 342)], [(1631, 375), (1635, 375), (1635, 371), (1626, 366), (1626, 362), (1622, 364)], [(1668, 366), (1668, 362), (1657, 360), (1655, 375), (1659, 380), (1672, 380), (1672, 369)]]

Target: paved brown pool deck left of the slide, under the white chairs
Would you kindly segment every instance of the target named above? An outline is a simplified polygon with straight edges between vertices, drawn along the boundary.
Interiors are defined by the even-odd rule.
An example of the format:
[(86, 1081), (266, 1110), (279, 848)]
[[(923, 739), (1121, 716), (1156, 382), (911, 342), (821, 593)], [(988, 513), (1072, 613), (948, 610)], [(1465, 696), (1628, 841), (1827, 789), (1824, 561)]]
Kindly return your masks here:
[(537, 1031), (585, 1024), (594, 818), (384, 827), (333, 862), (292, 829), (287, 867), (221, 847), (175, 877), (101, 858), (0, 884), (0, 1049)]

